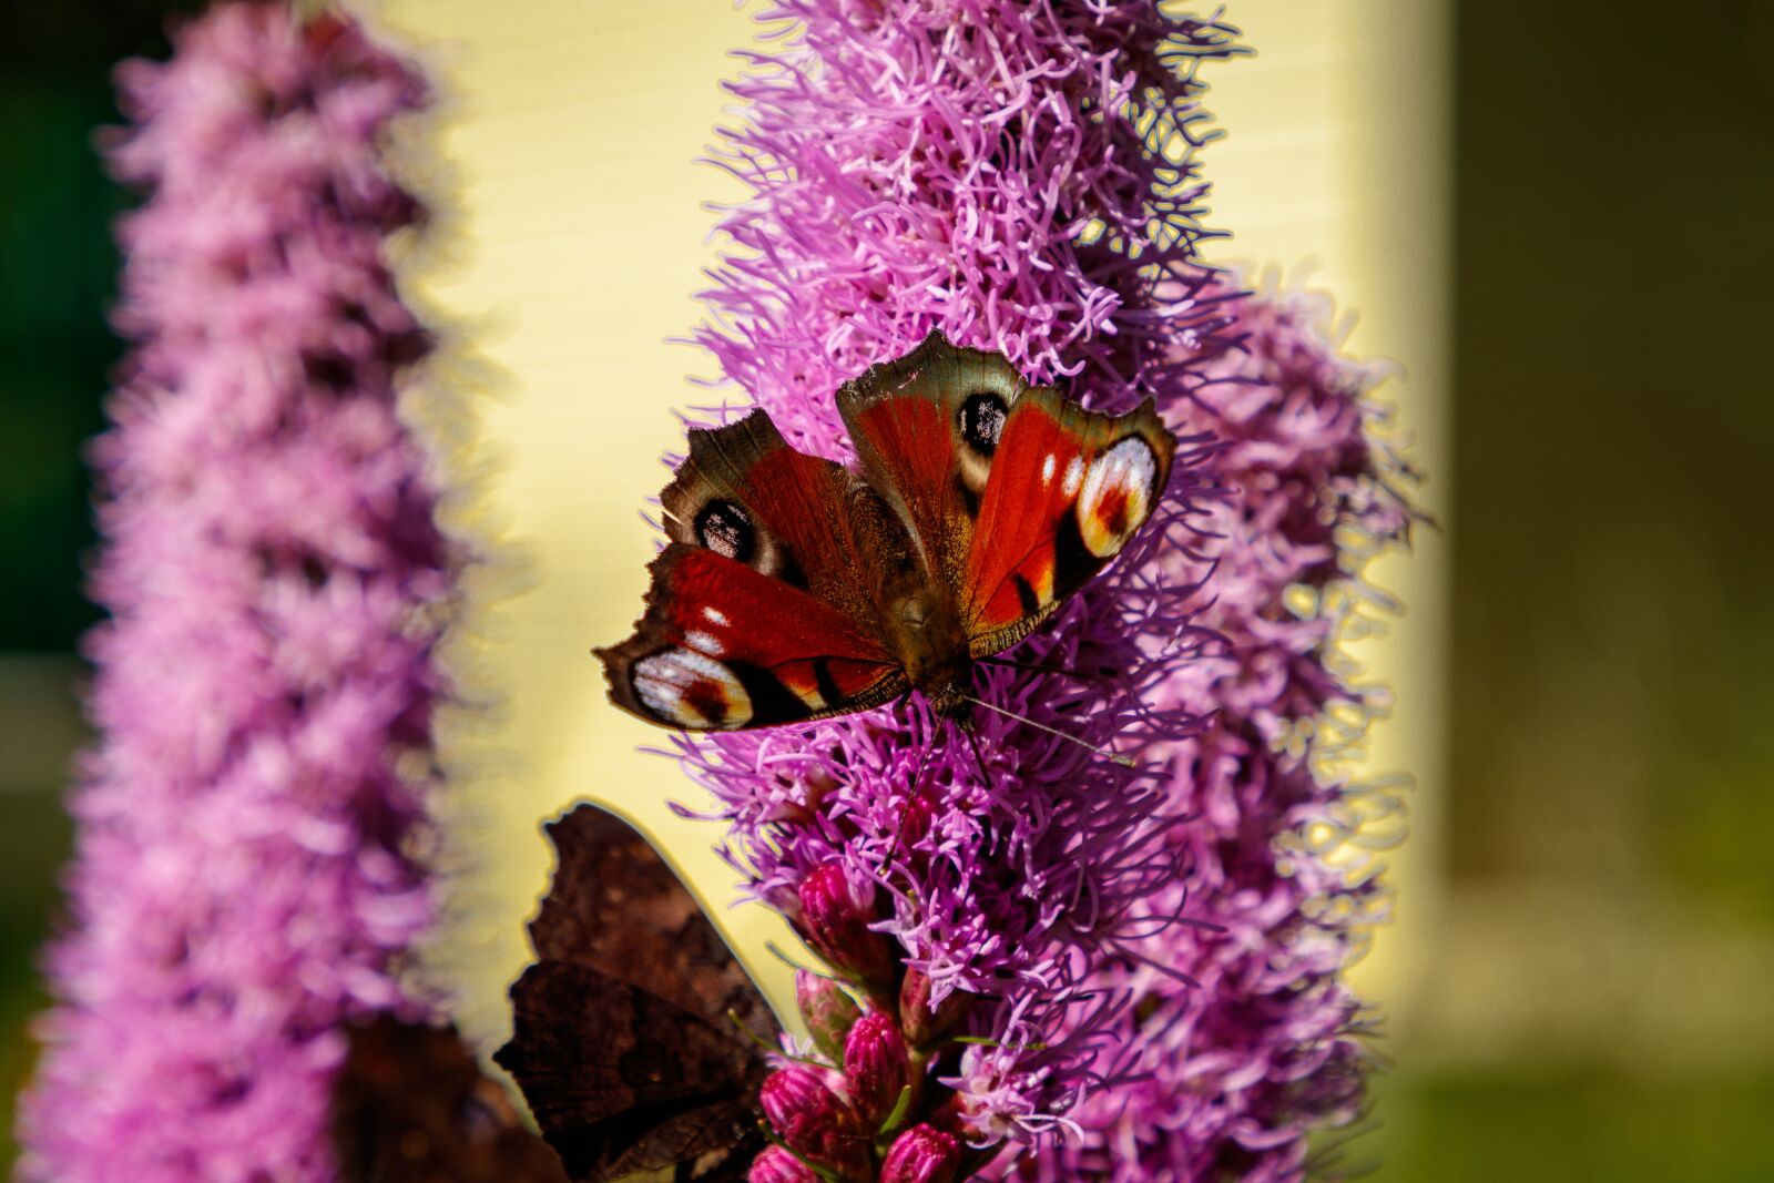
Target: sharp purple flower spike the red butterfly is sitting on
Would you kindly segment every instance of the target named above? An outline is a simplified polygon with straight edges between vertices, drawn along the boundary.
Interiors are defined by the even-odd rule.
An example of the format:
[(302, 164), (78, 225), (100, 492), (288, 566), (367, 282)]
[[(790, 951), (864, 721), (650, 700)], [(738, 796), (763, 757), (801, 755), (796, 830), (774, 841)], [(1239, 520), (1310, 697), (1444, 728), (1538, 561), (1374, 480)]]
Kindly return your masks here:
[[(1098, 410), (1155, 397), (1187, 429), (1226, 344), (1224, 296), (1194, 264), (1190, 71), (1233, 51), (1226, 28), (1150, 0), (784, 0), (763, 20), (802, 35), (734, 87), (745, 122), (718, 156), (752, 199), (722, 223), (718, 326), (697, 339), (789, 443), (848, 459), (832, 392), (931, 328)], [(1203, 708), (1151, 692), (1201, 639), (1171, 571), (1197, 543), (1203, 445), (1185, 440), (1153, 521), (1020, 651), (1077, 678), (983, 670), (981, 699), (1134, 757), (1190, 733)], [(908, 1041), (960, 1009), (997, 1041), (935, 1050), (931, 1068), (962, 1091), (965, 1137), (990, 1144), (1054, 1130), (1102, 1078), (1098, 1036), (1125, 995), (1084, 999), (1087, 970), (1180, 922), (1148, 901), (1187, 851), (1164, 841), (1162, 761), (1128, 772), (976, 722), (977, 763), (919, 701), (683, 750), (754, 894), (876, 1002), (883, 947), (919, 975)], [(857, 910), (841, 940), (821, 910), (834, 883)]]

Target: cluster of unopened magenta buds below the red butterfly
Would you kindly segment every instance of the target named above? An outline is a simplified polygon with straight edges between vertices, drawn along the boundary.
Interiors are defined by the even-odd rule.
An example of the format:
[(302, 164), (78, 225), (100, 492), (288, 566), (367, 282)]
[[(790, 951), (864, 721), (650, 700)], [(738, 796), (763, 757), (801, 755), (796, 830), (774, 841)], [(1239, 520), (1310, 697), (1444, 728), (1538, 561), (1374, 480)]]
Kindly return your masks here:
[(956, 1094), (938, 1080), (958, 1054), (954, 1036), (972, 995), (931, 1006), (931, 981), (903, 965), (880, 915), (836, 864), (800, 883), (797, 926), (837, 972), (797, 970), (795, 999), (821, 1059), (800, 1059), (765, 1080), (759, 1103), (772, 1146), (752, 1183), (953, 1183), (992, 1151), (967, 1142)]

